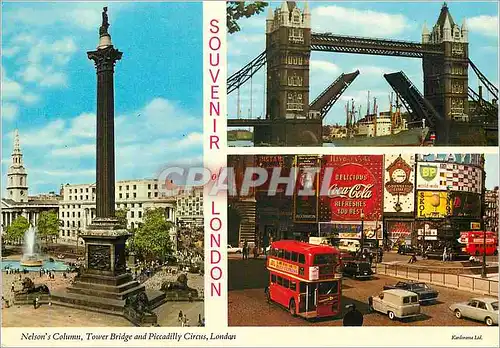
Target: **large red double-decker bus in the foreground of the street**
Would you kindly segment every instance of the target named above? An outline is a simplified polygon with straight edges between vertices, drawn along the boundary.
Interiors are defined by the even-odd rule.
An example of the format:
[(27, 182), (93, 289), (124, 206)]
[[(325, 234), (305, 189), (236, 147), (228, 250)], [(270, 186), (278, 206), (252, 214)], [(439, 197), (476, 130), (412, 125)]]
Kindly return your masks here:
[(339, 251), (292, 240), (273, 242), (267, 258), (268, 301), (306, 319), (341, 313)]

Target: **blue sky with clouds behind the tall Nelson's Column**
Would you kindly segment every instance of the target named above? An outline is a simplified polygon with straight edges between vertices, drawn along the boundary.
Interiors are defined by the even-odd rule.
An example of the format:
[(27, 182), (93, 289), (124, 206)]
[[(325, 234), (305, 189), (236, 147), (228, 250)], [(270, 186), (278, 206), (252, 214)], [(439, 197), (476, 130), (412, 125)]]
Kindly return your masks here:
[(3, 184), (16, 127), (30, 194), (95, 181), (96, 73), (86, 52), (97, 46), (103, 6), (123, 52), (115, 68), (117, 180), (201, 161), (200, 3), (3, 3)]

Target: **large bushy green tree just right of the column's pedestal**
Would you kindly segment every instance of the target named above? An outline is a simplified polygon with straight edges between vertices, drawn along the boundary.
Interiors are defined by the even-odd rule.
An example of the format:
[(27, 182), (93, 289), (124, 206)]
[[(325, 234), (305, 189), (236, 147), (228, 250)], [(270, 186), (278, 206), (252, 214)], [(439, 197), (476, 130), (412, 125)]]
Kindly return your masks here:
[(130, 249), (146, 261), (164, 261), (173, 252), (169, 234), (174, 224), (167, 221), (162, 208), (147, 209), (143, 221), (130, 241)]

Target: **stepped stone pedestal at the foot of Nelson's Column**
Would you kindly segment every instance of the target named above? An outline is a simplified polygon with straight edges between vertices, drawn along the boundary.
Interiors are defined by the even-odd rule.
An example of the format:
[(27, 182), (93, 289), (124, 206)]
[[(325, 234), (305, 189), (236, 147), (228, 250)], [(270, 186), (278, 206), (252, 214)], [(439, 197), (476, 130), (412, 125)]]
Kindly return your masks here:
[[(130, 299), (138, 295), (146, 296), (145, 302), (154, 306), (164, 303), (165, 294), (160, 291), (146, 293), (144, 285), (126, 271), (125, 241), (128, 237), (128, 232), (114, 219), (99, 219), (89, 225), (81, 235), (85, 240), (85, 267), (66, 291), (51, 294), (53, 303), (126, 318), (135, 311), (127, 304), (136, 303)], [(151, 308), (154, 307), (148, 309)], [(140, 312), (134, 317), (144, 315)], [(137, 320), (132, 322), (142, 324)], [(151, 320), (147, 324), (150, 325)]]

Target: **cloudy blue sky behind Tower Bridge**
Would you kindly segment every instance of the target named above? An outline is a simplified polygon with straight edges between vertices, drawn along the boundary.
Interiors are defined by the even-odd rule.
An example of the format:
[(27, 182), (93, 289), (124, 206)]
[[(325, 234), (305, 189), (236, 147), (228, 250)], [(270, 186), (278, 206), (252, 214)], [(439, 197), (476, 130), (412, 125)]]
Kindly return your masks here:
[[(281, 3), (271, 3), (276, 8)], [(298, 2), (304, 8), (304, 2)], [(422, 26), (432, 29), (442, 2), (309, 2), (311, 26), (314, 32), (421, 41)], [(498, 2), (448, 2), (450, 13), (458, 25), (466, 18), (469, 29), (469, 57), (498, 86)], [(240, 21), (241, 31), (229, 35), (228, 76), (242, 68), (265, 49), (266, 11)], [(354, 98), (366, 113), (367, 91), (377, 97), (378, 110), (389, 106), (392, 91), (383, 74), (403, 70), (422, 92), (422, 61), (415, 58), (380, 57), (370, 55), (312, 52), (310, 70), (310, 100), (313, 100), (341, 73), (360, 70), (360, 75), (344, 92), (326, 117), (326, 123), (345, 123), (345, 104)], [(264, 111), (264, 69), (252, 81), (253, 103), (250, 104), (250, 82), (240, 89), (241, 116), (259, 117)], [(469, 86), (477, 90), (477, 78), (469, 69)], [(486, 89), (484, 89), (486, 90)], [(487, 97), (488, 95), (485, 95)], [(237, 115), (237, 93), (228, 98), (230, 118)]]

